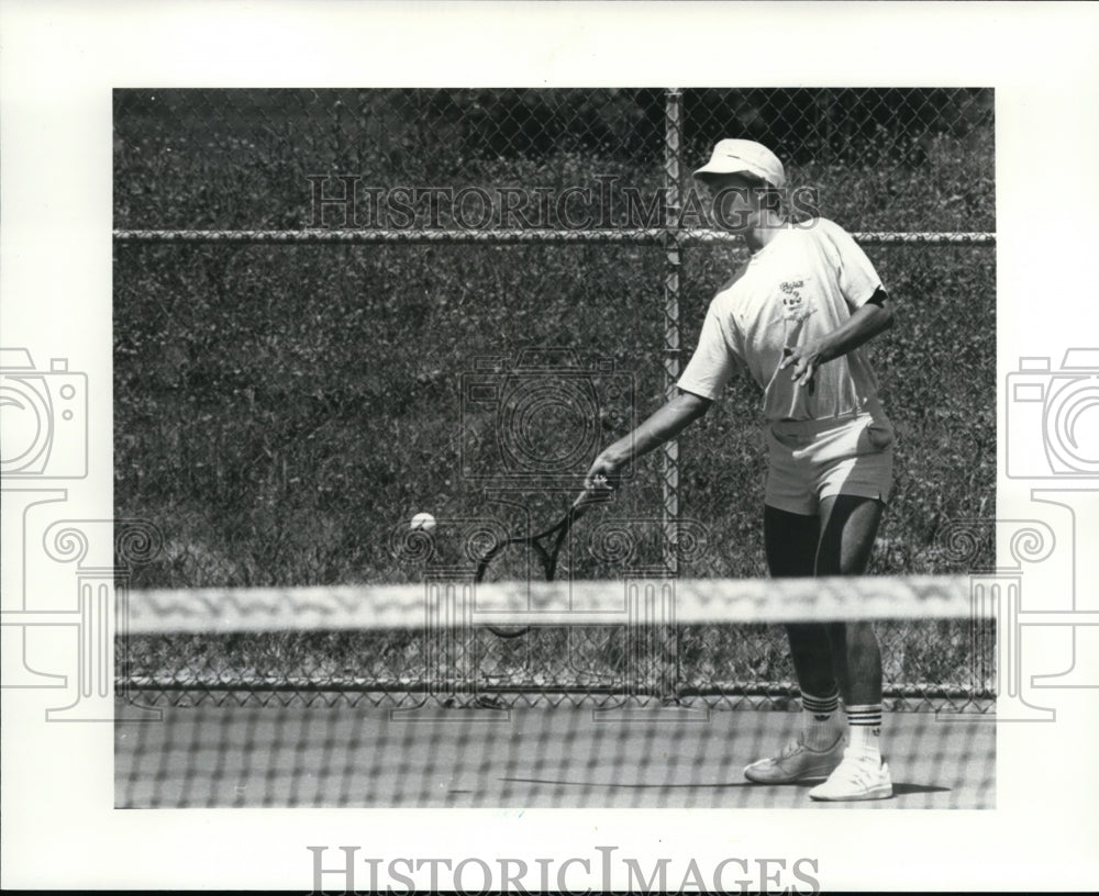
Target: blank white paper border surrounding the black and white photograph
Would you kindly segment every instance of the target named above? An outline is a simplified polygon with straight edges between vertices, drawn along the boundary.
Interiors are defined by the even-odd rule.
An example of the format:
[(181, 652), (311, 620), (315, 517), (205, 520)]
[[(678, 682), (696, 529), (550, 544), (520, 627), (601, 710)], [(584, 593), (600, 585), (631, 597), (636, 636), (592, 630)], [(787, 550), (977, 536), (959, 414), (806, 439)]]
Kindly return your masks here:
[[(73, 518), (112, 514), (112, 89), (449, 83), (993, 88), (997, 513), (1035, 515), (1036, 484), (1004, 474), (1003, 383), (1021, 357), (1056, 365), (1096, 320), (1099, 7), (9, 0), (0, 30), (3, 343), (87, 376), (96, 410), (88, 474), (64, 485)], [(1046, 641), (1032, 641), (1048, 651), (1034, 673), (1068, 664), (1064, 639)], [(825, 889), (1081, 887), (1099, 871), (1096, 692), (1050, 691), (1048, 704), (1054, 725), (999, 728), (997, 809), (835, 824), (788, 810), (115, 810), (111, 726), (47, 725), (41, 694), (9, 690), (3, 886), (309, 889), (309, 845), (458, 860), (503, 843), (528, 859), (597, 845), (700, 866), (819, 858)]]

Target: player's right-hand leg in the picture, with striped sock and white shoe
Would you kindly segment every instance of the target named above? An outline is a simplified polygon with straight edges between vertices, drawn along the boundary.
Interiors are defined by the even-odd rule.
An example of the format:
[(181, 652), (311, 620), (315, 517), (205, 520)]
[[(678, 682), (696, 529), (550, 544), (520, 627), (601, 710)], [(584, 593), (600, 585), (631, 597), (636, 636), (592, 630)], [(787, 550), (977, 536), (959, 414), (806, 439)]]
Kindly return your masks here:
[[(818, 575), (858, 575), (866, 571), (881, 520), (881, 502), (839, 495), (821, 502)], [(813, 799), (880, 799), (892, 795), (889, 769), (881, 761), (881, 651), (869, 623), (828, 626), (832, 661), (848, 723), (843, 763), (810, 791)]]

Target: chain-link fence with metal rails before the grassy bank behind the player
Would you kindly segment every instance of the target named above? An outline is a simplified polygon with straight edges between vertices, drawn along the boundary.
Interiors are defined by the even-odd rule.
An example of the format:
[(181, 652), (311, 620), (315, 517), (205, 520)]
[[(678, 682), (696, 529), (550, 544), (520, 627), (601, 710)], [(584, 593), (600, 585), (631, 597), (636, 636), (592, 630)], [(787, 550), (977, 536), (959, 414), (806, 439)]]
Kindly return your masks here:
[[(470, 519), (557, 517), (744, 260), (690, 177), (725, 136), (774, 148), (900, 305), (872, 349), (898, 430), (873, 571), (992, 565), (942, 535), (995, 513), (992, 123), (979, 89), (116, 91), (115, 509), (164, 534), (134, 585), (407, 582), (391, 534), (415, 512), (444, 564)], [(611, 531), (630, 569), (764, 575), (757, 407), (733, 383), (640, 460), (559, 574), (621, 574)], [(519, 648), (486, 637), (508, 679)], [(988, 694), (965, 624), (881, 637), (898, 699)], [(588, 681), (560, 638), (617, 649), (537, 638), (558, 690)], [(775, 629), (677, 638), (685, 694), (792, 693)], [(389, 681), (417, 650), (367, 653)]]

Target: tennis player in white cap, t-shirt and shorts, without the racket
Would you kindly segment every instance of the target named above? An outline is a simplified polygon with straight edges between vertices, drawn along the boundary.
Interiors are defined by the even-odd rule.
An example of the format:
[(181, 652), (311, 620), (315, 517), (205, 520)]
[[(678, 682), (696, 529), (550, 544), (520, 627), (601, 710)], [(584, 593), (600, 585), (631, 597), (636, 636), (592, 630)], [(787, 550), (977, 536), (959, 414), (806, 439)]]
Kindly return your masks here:
[[(859, 346), (892, 324), (891, 302), (850, 234), (822, 217), (788, 219), (779, 197), (786, 175), (765, 146), (723, 139), (695, 177), (710, 190), (721, 226), (744, 237), (751, 259), (710, 304), (677, 394), (603, 450), (586, 484), (613, 482), (633, 458), (701, 417), (744, 370), (763, 390), (770, 574), (859, 574), (889, 497), (893, 441)], [(799, 624), (787, 635), (801, 730), (745, 776), (761, 784), (824, 779), (809, 792), (819, 800), (891, 796), (873, 628)]]

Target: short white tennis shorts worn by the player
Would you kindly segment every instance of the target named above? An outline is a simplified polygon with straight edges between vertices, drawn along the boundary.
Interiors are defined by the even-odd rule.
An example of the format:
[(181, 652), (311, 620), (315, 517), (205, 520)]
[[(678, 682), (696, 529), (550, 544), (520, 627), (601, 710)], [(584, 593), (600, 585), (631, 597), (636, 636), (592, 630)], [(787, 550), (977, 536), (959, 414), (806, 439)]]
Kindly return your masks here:
[(893, 429), (885, 415), (778, 421), (766, 435), (769, 506), (813, 516), (832, 495), (889, 500)]

